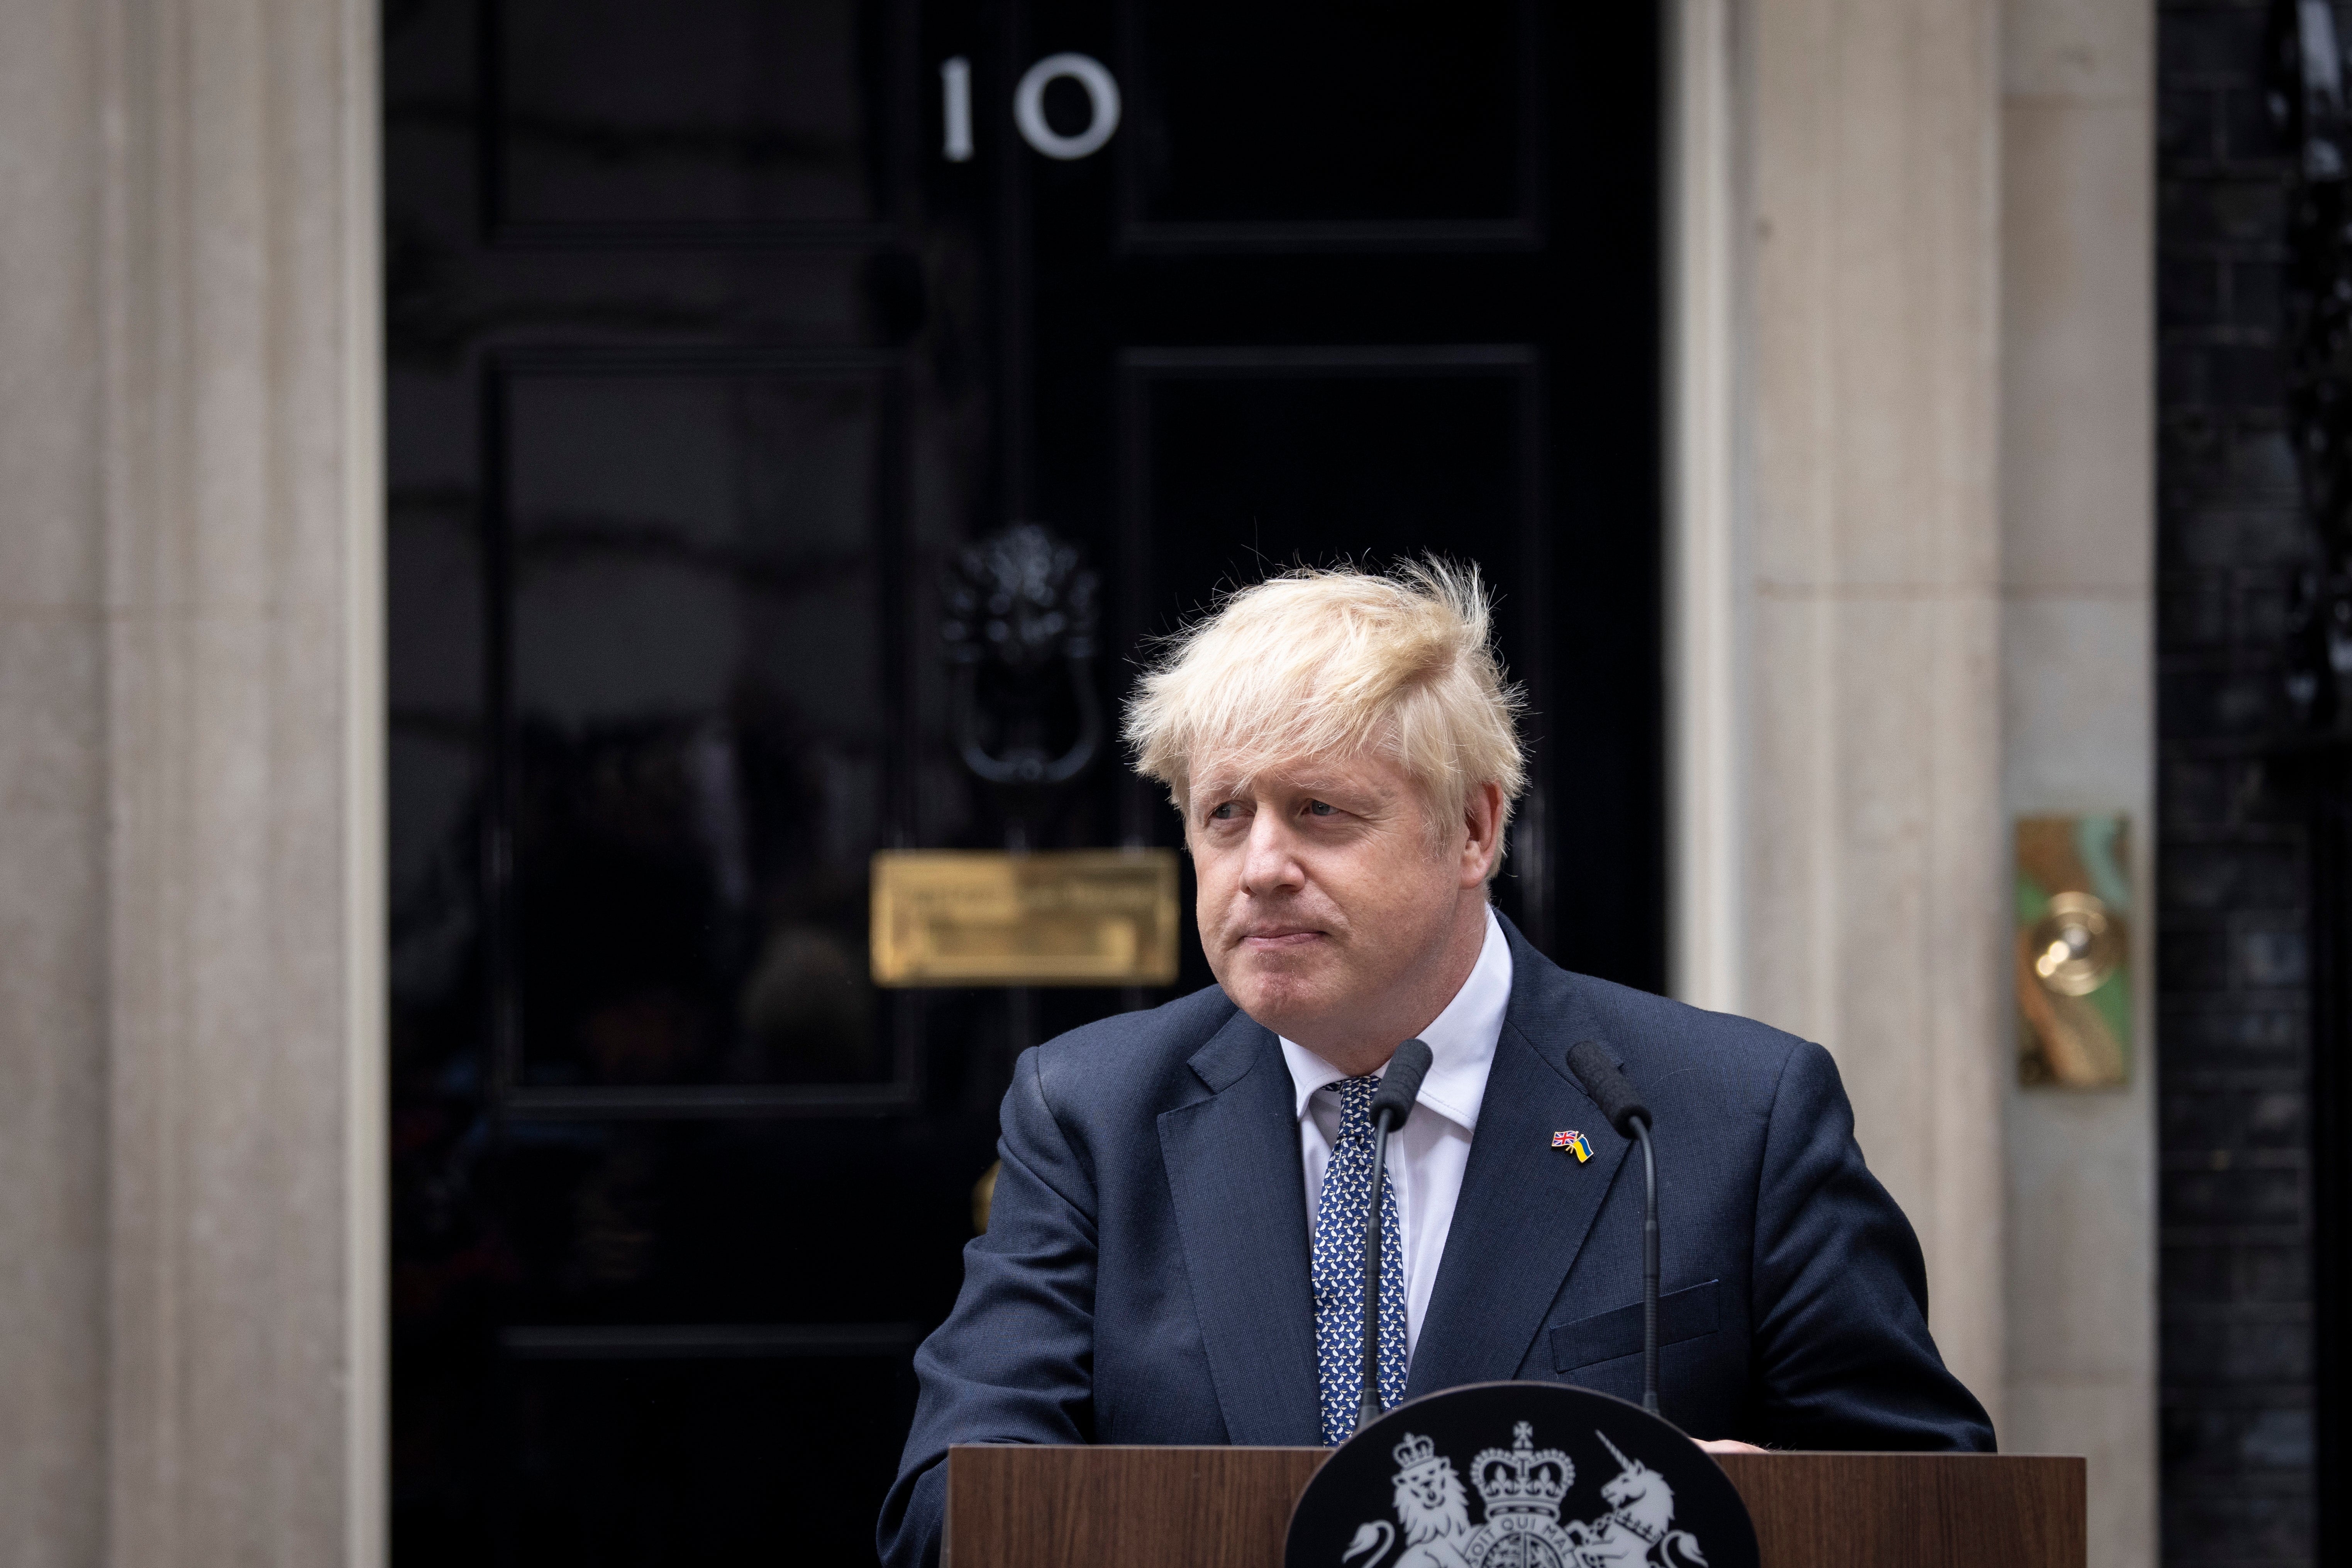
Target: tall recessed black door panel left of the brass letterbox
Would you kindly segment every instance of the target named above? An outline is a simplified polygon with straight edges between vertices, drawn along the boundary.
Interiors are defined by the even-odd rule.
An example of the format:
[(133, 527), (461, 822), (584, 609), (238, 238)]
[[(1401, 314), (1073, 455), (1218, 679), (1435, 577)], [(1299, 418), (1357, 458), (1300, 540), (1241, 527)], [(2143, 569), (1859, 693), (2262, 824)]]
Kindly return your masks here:
[(866, 865), (901, 832), (894, 362), (492, 376), (510, 1084), (891, 1077)]

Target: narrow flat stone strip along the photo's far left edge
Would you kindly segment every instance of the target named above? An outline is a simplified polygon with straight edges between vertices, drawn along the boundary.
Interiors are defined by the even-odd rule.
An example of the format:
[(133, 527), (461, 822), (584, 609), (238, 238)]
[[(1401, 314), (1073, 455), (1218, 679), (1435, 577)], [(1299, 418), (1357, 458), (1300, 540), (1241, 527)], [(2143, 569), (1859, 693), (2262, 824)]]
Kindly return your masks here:
[(106, 616), (94, 16), (0, 5), (0, 1561), (106, 1505)]

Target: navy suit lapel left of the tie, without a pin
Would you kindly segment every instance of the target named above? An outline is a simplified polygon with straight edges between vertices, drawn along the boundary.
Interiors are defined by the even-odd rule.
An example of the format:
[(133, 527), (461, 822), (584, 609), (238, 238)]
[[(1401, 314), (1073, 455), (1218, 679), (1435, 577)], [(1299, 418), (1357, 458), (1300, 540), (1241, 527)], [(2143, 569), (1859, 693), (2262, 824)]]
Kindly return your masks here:
[(1291, 1074), (1275, 1037), (1240, 1011), (1190, 1065), (1209, 1098), (1162, 1112), (1160, 1152), (1225, 1434), (1312, 1446), (1322, 1403)]

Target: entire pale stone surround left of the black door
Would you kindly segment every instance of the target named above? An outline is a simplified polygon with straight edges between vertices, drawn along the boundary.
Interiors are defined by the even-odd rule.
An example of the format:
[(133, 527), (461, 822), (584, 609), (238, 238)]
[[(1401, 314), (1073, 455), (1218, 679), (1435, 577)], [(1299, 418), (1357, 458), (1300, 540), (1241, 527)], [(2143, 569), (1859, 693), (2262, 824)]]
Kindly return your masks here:
[(376, 9), (0, 7), (0, 1556), (383, 1559)]

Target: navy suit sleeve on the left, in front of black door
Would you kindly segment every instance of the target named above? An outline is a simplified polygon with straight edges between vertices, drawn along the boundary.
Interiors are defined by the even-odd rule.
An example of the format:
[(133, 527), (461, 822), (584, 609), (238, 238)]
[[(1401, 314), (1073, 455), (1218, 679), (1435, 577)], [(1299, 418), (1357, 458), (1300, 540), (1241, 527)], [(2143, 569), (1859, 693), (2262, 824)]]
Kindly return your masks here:
[(1084, 1443), (1094, 1429), (1094, 1178), (1047, 1105), (1037, 1051), (1004, 1093), (988, 1234), (964, 1288), (915, 1352), (915, 1425), (882, 1502), (889, 1568), (931, 1568), (948, 1512), (948, 1443)]

